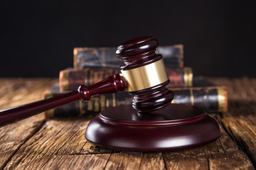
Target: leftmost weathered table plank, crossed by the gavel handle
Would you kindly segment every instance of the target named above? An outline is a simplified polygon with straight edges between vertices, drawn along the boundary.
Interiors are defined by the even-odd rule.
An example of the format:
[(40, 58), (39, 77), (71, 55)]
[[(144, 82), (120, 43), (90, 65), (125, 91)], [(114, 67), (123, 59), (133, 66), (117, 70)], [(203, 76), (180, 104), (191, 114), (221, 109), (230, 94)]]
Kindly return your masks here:
[[(46, 81), (47, 80), (47, 81)], [(56, 79), (0, 79), (0, 110), (41, 99)], [(0, 128), (0, 169), (43, 125), (43, 114)]]

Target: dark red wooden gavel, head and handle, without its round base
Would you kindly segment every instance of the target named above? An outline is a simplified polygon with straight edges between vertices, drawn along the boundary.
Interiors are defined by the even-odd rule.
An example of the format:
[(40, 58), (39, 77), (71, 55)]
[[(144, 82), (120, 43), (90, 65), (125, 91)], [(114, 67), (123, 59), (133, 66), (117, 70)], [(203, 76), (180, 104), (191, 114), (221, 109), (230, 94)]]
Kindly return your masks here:
[(169, 77), (162, 55), (155, 52), (158, 45), (158, 40), (149, 36), (123, 42), (116, 51), (117, 57), (124, 61), (120, 66), (121, 74), (107, 77), (91, 86), (81, 85), (78, 90), (62, 96), (0, 111), (0, 126), (74, 101), (88, 101), (97, 94), (116, 93), (125, 89), (134, 95), (132, 107), (138, 113), (148, 113), (168, 106), (174, 93), (165, 87), (169, 84)]

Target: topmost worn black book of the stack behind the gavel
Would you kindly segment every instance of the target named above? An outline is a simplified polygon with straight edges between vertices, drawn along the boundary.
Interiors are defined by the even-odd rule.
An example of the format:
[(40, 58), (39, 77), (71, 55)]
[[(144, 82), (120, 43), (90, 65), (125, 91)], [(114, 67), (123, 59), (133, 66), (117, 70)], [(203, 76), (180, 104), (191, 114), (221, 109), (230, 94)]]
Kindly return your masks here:
[[(115, 55), (115, 47), (75, 47), (74, 67), (85, 69), (86, 67), (119, 68), (122, 60)], [(166, 67), (183, 67), (183, 45), (159, 46), (156, 53), (163, 55)]]

